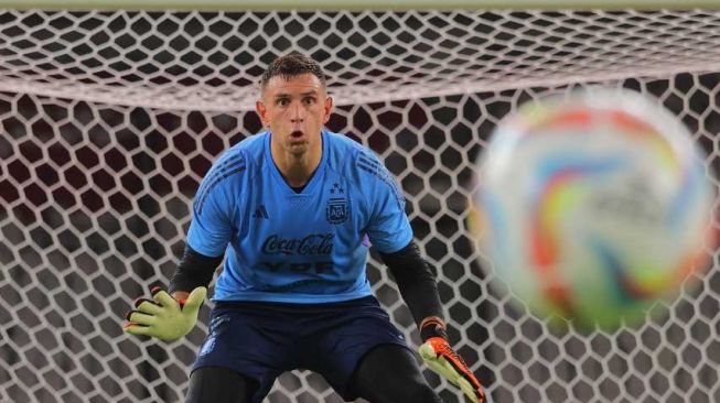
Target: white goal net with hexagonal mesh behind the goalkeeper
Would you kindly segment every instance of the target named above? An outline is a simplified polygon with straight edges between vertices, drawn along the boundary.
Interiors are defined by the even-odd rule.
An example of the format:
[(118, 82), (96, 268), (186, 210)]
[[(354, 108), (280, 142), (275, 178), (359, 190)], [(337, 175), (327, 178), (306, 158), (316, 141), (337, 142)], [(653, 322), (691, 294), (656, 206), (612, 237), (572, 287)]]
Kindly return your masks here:
[[(717, 266), (638, 329), (559, 331), (488, 287), (464, 222), (498, 119), (571, 86), (657, 96), (718, 170), (719, 32), (703, 11), (0, 12), (0, 401), (182, 401), (209, 306), (172, 344), (122, 334), (123, 315), (173, 273), (200, 179), (260, 129), (254, 84), (290, 50), (331, 76), (329, 127), (397, 176), (451, 339), (493, 402), (720, 401)], [(417, 342), (377, 262), (374, 290)], [(268, 401), (342, 400), (295, 371)]]

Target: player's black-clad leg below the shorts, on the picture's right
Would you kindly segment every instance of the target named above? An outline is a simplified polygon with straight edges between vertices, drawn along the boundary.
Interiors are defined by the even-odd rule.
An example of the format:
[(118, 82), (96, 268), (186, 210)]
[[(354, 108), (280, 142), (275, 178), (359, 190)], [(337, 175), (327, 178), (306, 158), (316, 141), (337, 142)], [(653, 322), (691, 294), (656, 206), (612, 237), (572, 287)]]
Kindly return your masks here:
[(412, 352), (398, 345), (369, 350), (353, 373), (350, 390), (370, 403), (442, 403)]

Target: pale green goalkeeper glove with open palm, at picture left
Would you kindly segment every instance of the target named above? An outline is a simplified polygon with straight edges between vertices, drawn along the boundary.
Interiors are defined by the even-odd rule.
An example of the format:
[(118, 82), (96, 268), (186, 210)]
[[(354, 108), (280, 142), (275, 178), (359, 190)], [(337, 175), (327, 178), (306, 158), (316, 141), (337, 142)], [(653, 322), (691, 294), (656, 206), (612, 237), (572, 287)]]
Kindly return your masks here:
[(178, 301), (160, 286), (150, 292), (152, 299), (138, 298), (136, 311), (126, 315), (128, 323), (122, 330), (131, 335), (176, 340), (190, 333), (197, 322), (197, 312), (207, 295), (207, 288), (196, 287), (186, 299)]

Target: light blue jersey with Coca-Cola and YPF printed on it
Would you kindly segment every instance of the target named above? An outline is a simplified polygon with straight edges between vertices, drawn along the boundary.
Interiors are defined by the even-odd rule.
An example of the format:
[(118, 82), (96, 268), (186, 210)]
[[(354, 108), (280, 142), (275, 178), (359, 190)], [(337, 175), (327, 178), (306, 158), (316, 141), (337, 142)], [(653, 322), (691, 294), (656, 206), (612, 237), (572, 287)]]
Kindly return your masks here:
[(322, 131), (322, 160), (300, 193), (270, 155), (269, 132), (227, 150), (203, 179), (187, 243), (225, 268), (215, 301), (325, 303), (370, 294), (369, 242), (410, 243), (405, 199), (367, 148)]

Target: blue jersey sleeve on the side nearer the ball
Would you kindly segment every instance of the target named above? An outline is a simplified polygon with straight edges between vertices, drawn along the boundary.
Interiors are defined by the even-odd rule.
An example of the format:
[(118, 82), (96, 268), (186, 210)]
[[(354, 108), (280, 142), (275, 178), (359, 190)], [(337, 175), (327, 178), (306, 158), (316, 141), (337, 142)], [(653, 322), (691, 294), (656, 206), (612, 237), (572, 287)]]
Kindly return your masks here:
[(405, 197), (393, 174), (370, 153), (361, 153), (357, 166), (369, 188), (370, 220), (367, 236), (383, 253), (393, 253), (412, 240), (412, 228), (405, 214)]

